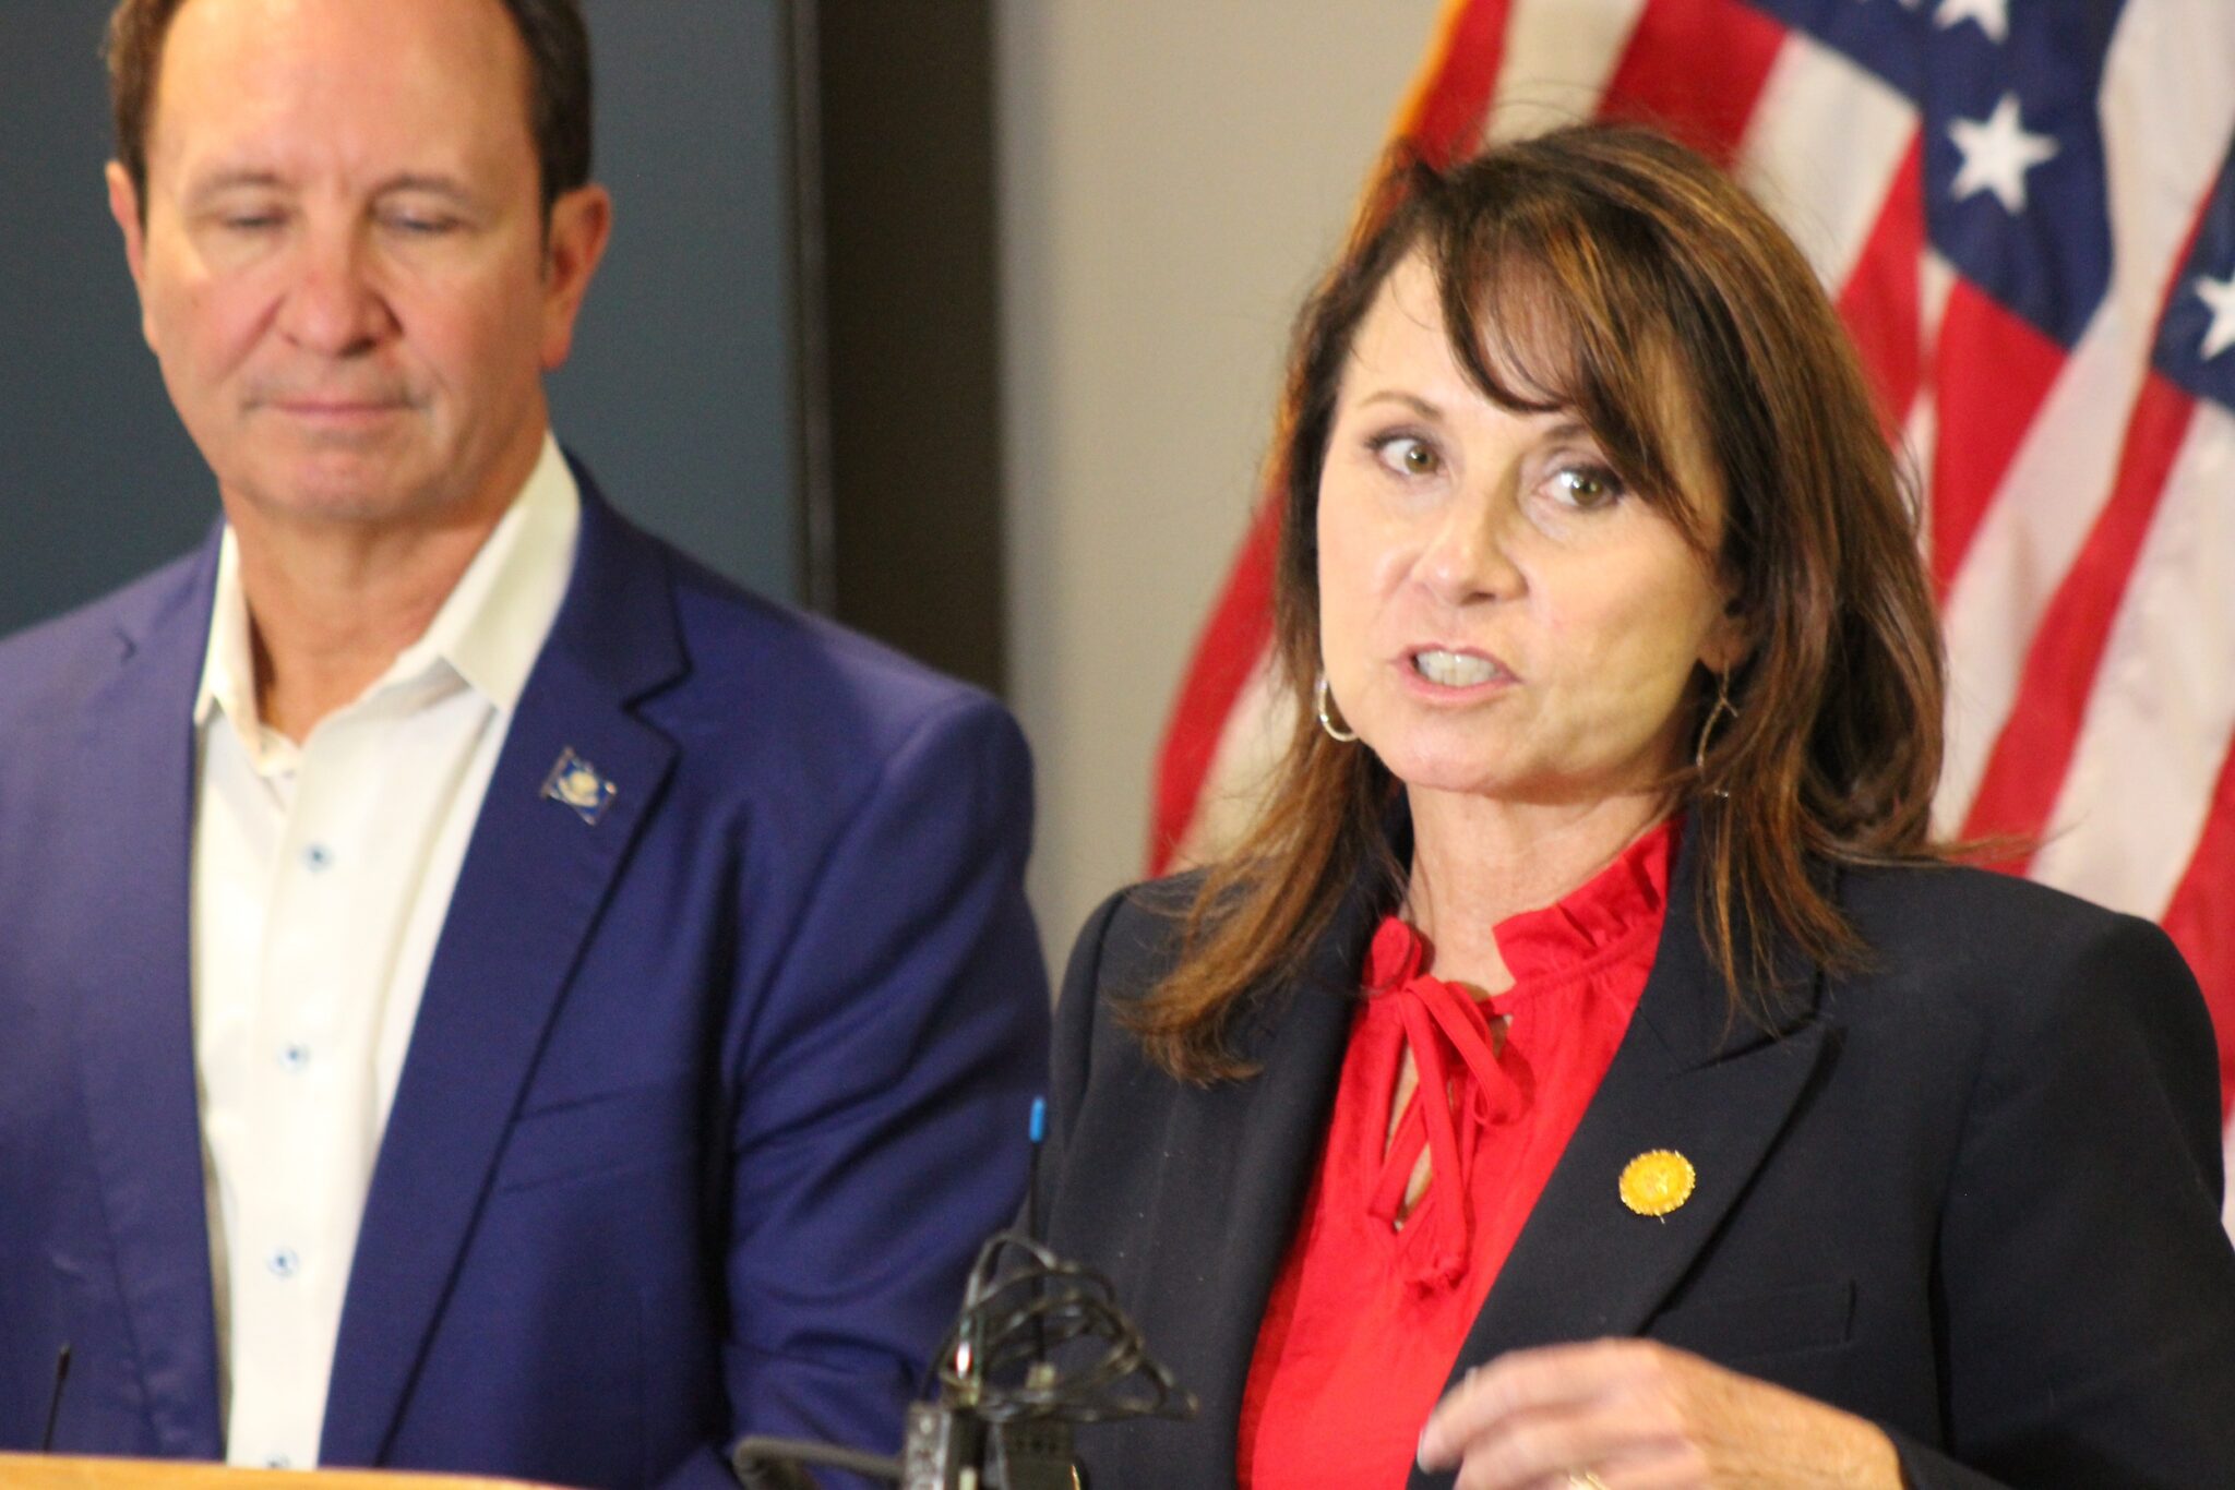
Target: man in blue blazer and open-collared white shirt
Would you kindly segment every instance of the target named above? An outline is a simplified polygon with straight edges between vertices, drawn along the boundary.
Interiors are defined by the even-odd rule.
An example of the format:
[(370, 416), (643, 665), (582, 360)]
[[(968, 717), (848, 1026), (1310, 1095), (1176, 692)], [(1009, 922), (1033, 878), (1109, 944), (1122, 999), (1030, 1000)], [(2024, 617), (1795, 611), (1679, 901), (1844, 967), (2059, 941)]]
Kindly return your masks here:
[(224, 527), (0, 648), (0, 1445), (729, 1483), (892, 1445), (1046, 992), (997, 706), (552, 442), (577, 0), (123, 0)]

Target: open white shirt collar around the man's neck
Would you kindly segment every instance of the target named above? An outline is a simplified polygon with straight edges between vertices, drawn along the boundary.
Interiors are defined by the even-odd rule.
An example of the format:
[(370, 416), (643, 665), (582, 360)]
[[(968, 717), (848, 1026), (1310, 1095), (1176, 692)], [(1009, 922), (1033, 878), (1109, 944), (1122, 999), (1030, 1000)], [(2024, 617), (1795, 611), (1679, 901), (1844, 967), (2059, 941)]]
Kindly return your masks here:
[[(543, 436), (543, 456), (527, 485), (505, 509), (474, 563), (451, 588), (434, 621), (360, 695), (360, 704), (391, 688), (427, 681), (463, 681), (496, 710), (510, 713), (527, 686), (527, 672), (559, 619), (574, 570), (574, 538), (581, 532), (581, 489), (559, 453), (559, 440)], [(268, 730), (257, 715), (257, 675), (248, 648), (248, 596), (241, 592), (241, 554), (230, 527), (217, 550), (217, 596), (210, 612), (210, 643), (201, 659), (201, 690), (194, 724), (210, 710), (228, 724), (259, 775), (291, 768), (295, 742)]]

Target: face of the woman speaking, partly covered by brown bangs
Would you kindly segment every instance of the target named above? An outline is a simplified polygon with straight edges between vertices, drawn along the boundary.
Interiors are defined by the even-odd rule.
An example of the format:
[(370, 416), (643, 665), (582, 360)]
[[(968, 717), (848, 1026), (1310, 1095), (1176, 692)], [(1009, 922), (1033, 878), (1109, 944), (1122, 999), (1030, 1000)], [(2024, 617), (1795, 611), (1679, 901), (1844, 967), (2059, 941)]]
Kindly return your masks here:
[[(1672, 451), (1721, 534), (1696, 449)], [(1319, 480), (1334, 706), (1413, 789), (1585, 804), (1652, 791), (1692, 668), (1743, 652), (1685, 536), (1569, 413), (1509, 413), (1451, 353), (1410, 257), (1359, 326)]]

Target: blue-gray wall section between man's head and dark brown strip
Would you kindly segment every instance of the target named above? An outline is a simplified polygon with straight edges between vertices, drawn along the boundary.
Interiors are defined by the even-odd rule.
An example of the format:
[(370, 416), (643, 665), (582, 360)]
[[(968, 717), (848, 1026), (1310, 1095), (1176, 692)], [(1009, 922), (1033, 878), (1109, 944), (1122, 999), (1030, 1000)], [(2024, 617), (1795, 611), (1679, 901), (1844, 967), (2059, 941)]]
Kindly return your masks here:
[(798, 596), (778, 0), (588, 0), (612, 248), (552, 424), (637, 520)]

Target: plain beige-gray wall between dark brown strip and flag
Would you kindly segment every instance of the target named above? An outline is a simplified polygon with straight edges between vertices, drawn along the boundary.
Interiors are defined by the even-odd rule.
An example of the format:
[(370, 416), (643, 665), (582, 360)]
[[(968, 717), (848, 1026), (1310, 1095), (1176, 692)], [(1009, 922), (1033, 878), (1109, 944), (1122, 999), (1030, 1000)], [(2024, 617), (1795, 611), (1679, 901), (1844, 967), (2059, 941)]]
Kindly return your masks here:
[(995, 7), (1010, 704), (1057, 967), (1142, 871), (1155, 746), (1261, 489), (1287, 322), (1437, 9)]

